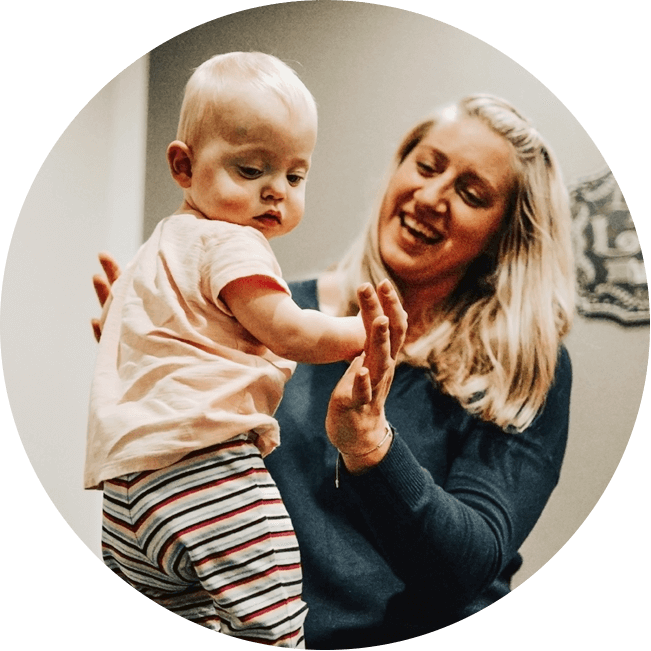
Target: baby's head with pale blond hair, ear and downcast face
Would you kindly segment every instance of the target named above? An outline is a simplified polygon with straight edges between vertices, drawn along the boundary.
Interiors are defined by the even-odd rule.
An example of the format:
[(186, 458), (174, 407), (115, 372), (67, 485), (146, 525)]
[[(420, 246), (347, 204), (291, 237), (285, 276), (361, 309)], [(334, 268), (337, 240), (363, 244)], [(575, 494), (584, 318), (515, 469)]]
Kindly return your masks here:
[(179, 212), (252, 226), (268, 239), (298, 225), (316, 142), (316, 104), (276, 57), (231, 52), (199, 66), (167, 150)]

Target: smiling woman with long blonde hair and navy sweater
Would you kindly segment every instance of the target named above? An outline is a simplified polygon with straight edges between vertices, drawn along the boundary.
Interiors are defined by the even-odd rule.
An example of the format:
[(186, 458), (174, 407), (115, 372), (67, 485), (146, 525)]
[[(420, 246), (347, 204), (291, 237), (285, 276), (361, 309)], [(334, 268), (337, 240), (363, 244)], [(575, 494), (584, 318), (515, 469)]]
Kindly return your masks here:
[(292, 286), (347, 314), (388, 276), (408, 315), (399, 352), (399, 313), (371, 296), (365, 356), (299, 365), (277, 412), (267, 465), (301, 546), (308, 649), (405, 640), (509, 592), (565, 450), (572, 268), (549, 149), (473, 96), (407, 135), (357, 245)]

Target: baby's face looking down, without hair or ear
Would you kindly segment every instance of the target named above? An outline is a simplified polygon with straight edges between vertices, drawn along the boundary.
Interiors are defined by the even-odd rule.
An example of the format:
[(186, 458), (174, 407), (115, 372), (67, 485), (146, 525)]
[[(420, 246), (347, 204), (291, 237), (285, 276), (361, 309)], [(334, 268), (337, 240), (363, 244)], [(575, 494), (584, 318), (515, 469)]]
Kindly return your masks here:
[(222, 108), (219, 127), (193, 153), (186, 202), (209, 219), (252, 226), (267, 239), (289, 233), (305, 209), (316, 115), (252, 91)]

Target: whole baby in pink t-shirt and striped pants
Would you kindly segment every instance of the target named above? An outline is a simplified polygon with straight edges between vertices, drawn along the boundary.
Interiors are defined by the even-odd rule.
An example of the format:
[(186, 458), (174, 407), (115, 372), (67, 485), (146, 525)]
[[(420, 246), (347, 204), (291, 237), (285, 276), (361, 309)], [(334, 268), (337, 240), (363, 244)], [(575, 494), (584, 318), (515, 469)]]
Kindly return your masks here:
[[(305, 648), (294, 531), (262, 458), (296, 362), (351, 359), (358, 317), (301, 310), (268, 244), (303, 216), (314, 100), (275, 57), (190, 78), (167, 150), (183, 204), (113, 286), (85, 488), (103, 489), (108, 567), (156, 603), (261, 644)], [(292, 360), (292, 361), (289, 361)]]

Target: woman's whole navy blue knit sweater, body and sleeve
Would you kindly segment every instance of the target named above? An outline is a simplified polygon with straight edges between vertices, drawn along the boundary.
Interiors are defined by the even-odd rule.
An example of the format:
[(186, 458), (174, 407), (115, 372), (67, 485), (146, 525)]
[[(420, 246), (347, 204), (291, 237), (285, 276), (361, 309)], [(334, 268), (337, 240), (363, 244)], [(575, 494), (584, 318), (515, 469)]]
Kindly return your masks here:
[[(316, 282), (291, 285), (318, 309)], [(522, 434), (469, 415), (423, 369), (396, 369), (386, 404), (396, 430), (371, 471), (343, 468), (324, 422), (344, 363), (299, 364), (267, 457), (301, 548), (308, 649), (379, 646), (439, 629), (509, 592), (518, 549), (559, 477), (571, 366), (561, 350), (543, 411)]]

